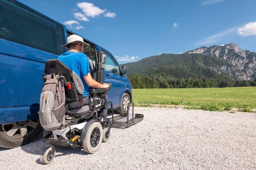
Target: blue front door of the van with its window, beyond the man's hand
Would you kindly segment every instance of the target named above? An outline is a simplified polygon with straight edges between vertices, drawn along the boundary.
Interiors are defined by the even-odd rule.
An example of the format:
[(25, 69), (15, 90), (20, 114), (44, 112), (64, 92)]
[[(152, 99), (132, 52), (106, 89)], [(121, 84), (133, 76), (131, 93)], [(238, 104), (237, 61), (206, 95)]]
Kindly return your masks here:
[(122, 82), (123, 77), (120, 76), (119, 65), (113, 56), (106, 51), (103, 52), (106, 54), (104, 82), (112, 82), (111, 89), (108, 92), (108, 101), (113, 102), (113, 107), (119, 107), (122, 97), (122, 90), (125, 87), (125, 83)]

